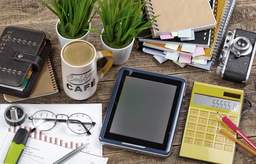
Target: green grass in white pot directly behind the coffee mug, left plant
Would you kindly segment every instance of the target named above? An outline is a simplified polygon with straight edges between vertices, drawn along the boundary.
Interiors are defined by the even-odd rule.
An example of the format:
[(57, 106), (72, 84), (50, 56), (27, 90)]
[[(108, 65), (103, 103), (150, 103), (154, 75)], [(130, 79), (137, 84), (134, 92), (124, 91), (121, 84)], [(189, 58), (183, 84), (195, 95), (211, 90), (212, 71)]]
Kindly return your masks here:
[(67, 42), (74, 39), (89, 39), (90, 21), (93, 5), (97, 0), (51, 0), (53, 6), (39, 0), (45, 7), (52, 11), (59, 20), (56, 23), (56, 32), (63, 47)]

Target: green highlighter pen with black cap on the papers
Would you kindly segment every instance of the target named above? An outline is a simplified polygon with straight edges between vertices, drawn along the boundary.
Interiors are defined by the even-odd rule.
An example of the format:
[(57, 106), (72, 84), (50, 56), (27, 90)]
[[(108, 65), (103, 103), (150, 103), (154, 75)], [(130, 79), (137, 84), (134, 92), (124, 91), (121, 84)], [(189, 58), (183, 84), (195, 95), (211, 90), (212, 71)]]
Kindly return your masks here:
[(4, 164), (16, 164), (18, 162), (27, 144), (28, 138), (29, 131), (22, 128), (18, 129), (7, 152)]

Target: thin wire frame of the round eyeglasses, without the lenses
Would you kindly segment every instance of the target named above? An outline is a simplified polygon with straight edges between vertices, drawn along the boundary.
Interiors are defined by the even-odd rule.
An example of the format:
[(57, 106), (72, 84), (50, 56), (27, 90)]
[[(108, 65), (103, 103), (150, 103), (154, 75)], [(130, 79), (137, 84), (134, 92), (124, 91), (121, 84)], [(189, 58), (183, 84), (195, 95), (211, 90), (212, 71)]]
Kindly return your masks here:
[[(46, 112), (50, 112), (50, 113), (53, 113), (53, 112), (51, 112), (51, 111), (47, 111), (47, 110), (40, 110), (40, 111), (46, 111)], [(40, 112), (40, 111), (37, 111), (37, 112), (35, 112), (35, 113), (38, 113), (38, 112)], [(35, 114), (34, 113), (34, 114)], [(34, 116), (34, 114), (31, 116), (31, 117), (28, 117), (28, 119), (29, 120), (31, 120), (31, 122), (32, 122), (32, 124), (34, 125), (34, 123), (33, 123), (33, 116)], [(53, 113), (54, 114), (54, 113)], [(75, 115), (75, 114), (83, 114), (83, 115), (87, 115), (87, 114), (85, 114), (85, 113), (73, 113), (73, 114), (71, 114), (71, 115)], [(55, 115), (55, 114), (54, 114)], [(86, 130), (86, 132), (85, 133), (87, 133), (88, 135), (91, 135), (91, 132), (89, 131), (90, 129), (87, 129), (86, 127), (85, 127), (85, 125), (83, 124), (83, 123), (86, 123), (86, 122), (81, 122), (80, 120), (69, 120), (69, 118), (70, 118), (70, 116), (68, 116), (68, 115), (65, 115), (65, 116), (67, 116), (67, 120), (65, 120), (65, 119), (58, 119), (57, 118), (57, 116), (58, 115), (65, 115), (65, 114), (57, 114), (57, 115), (55, 115), (55, 117), (56, 117), (56, 119), (54, 119), (54, 118), (43, 118), (43, 119), (45, 119), (45, 120), (47, 120), (47, 121), (56, 121), (55, 123), (54, 123), (54, 126), (52, 126), (52, 128), (50, 128), (50, 129), (48, 129), (48, 130), (40, 130), (40, 129), (38, 129), (38, 130), (40, 130), (40, 131), (49, 131), (49, 130), (51, 130), (51, 129), (53, 129), (58, 123), (57, 122), (68, 122), (68, 121), (75, 121), (75, 122), (79, 122), (82, 126), (83, 126), (83, 128)], [(87, 115), (91, 120), (92, 120), (92, 118), (89, 116), (89, 115)], [(34, 117), (34, 119), (35, 119), (36, 117)], [(41, 118), (38, 118), (38, 119), (41, 119)], [(94, 126), (96, 124), (96, 122), (93, 122), (92, 121), (92, 125), (91, 126)], [(34, 125), (35, 126), (35, 125)], [(67, 127), (68, 127), (68, 129), (70, 129), (70, 127), (67, 125)], [(36, 130), (37, 128), (36, 128), (36, 126), (33, 128), (33, 129), (31, 129), (29, 132), (34, 132), (35, 130)], [(71, 129), (70, 129), (71, 130)], [(72, 130), (71, 130), (72, 131)], [(74, 132), (74, 131), (72, 131), (72, 132)], [(74, 133), (76, 133), (76, 132), (74, 132)], [(84, 134), (84, 133), (76, 133), (76, 134)]]

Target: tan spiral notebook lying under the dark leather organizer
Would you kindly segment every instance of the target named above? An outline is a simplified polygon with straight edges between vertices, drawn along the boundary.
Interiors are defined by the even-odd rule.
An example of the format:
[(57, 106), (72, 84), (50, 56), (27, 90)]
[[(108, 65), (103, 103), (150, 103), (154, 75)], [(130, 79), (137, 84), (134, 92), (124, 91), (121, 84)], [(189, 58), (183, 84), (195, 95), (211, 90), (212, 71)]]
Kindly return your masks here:
[(44, 95), (50, 95), (54, 93), (58, 93), (59, 85), (58, 85), (58, 78), (55, 74), (54, 65), (52, 60), (48, 56), (47, 60), (45, 61), (45, 65), (36, 80), (36, 84), (34, 85), (31, 94), (27, 98), (18, 98), (12, 95), (4, 94), (4, 100), (8, 102), (16, 102), (20, 100), (26, 100), (30, 98), (37, 98)]

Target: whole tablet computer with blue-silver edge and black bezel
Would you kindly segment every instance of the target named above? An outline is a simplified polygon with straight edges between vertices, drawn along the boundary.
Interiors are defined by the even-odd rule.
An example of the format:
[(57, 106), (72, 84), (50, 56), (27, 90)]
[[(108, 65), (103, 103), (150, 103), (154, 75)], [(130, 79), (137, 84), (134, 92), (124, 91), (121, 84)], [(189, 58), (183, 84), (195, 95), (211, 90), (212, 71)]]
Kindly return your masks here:
[(183, 78), (121, 68), (99, 135), (101, 144), (167, 157), (185, 89)]

